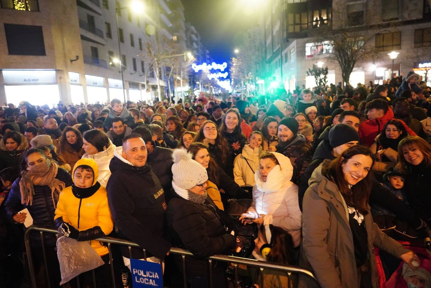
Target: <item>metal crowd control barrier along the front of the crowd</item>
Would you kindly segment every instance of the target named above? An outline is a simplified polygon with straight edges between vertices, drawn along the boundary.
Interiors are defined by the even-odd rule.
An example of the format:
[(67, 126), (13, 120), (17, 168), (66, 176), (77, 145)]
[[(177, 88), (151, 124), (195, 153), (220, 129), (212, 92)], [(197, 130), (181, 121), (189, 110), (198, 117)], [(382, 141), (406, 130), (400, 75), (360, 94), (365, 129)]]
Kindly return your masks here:
[[(28, 269), (30, 272), (31, 287), (32, 288), (41, 288), (41, 287), (36, 286), (36, 275), (34, 273), (34, 263), (33, 263), (33, 257), (31, 255), (31, 246), (30, 246), (30, 232), (31, 231), (39, 231), (40, 232), (42, 251), (44, 254), (43, 259), (44, 259), (45, 267), (47, 267), (47, 257), (45, 254), (43, 233), (46, 232), (46, 233), (58, 234), (58, 231), (53, 230), (53, 229), (37, 227), (37, 226), (30, 226), (27, 228), (27, 230), (25, 232), (25, 237), (24, 237), (25, 249), (27, 250)], [(134, 243), (134, 242), (131, 242), (131, 241), (118, 239), (118, 238), (112, 238), (112, 237), (97, 238), (96, 240), (108, 243), (109, 263), (111, 266), (112, 285), (114, 288), (116, 288), (115, 279), (114, 279), (114, 266), (112, 263), (111, 244), (119, 244), (119, 245), (128, 246), (130, 255), (131, 255), (131, 247), (139, 248), (139, 245)], [(144, 258), (146, 260), (147, 257), (146, 257), (145, 249), (143, 249), (143, 251), (144, 251)], [(187, 279), (185, 276), (186, 275), (185, 257), (186, 256), (193, 256), (193, 254), (191, 254), (187, 250), (183, 250), (180, 248), (174, 248), (174, 247), (172, 247), (171, 250), (169, 250), (169, 253), (181, 255), (182, 264), (183, 264), (184, 288), (187, 288)], [(237, 281), (237, 279), (238, 279), (238, 264), (259, 268), (260, 276), (261, 276), (260, 277), (260, 288), (264, 288), (264, 286), (263, 286), (263, 270), (264, 269), (271, 269), (271, 270), (277, 270), (277, 271), (285, 272), (286, 276), (287, 276), (288, 288), (291, 288), (290, 276), (292, 275), (292, 273), (304, 274), (304, 275), (311, 277), (312, 279), (314, 279), (316, 281), (316, 278), (315, 278), (315, 275), (313, 274), (313, 272), (311, 272), (308, 269), (300, 268), (298, 266), (280, 265), (280, 264), (269, 263), (269, 262), (265, 262), (265, 261), (258, 261), (258, 260), (254, 260), (254, 259), (233, 257), (233, 256), (227, 256), (227, 255), (214, 255), (214, 256), (208, 258), (209, 287), (210, 288), (212, 288), (212, 261), (213, 260), (222, 261), (222, 262), (226, 262), (226, 263), (232, 263), (234, 266), (234, 280), (235, 281)], [(50, 278), (49, 278), (49, 274), (48, 274), (49, 273), (48, 269), (45, 269), (45, 272), (46, 272), (48, 288), (50, 288), (50, 281), (49, 281)], [(94, 271), (93, 271), (93, 283), (94, 283), (94, 287), (96, 287), (96, 281), (95, 281), (94, 277), (95, 276), (94, 276)], [(77, 277), (77, 279), (78, 279), (78, 277)], [(78, 281), (78, 288), (79, 288), (79, 279), (77, 281)], [(64, 285), (63, 285), (63, 287), (64, 287)]]

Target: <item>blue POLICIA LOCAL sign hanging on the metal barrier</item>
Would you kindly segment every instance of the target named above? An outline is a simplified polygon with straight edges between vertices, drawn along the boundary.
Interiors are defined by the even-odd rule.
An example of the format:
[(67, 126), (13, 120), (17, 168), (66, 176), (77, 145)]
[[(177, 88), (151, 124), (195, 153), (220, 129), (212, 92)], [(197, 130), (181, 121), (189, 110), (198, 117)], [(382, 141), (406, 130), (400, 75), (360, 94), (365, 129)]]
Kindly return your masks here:
[(133, 287), (163, 288), (162, 266), (144, 260), (130, 259)]

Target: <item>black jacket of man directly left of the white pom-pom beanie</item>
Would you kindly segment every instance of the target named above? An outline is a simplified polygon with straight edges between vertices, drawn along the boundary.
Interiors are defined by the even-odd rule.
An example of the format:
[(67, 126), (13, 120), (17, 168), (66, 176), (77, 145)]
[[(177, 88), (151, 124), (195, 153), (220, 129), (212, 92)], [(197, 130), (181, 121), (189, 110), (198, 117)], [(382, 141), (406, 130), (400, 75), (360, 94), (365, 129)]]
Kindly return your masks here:
[(147, 156), (147, 163), (153, 168), (157, 178), (159, 178), (162, 184), (163, 190), (165, 191), (166, 198), (169, 200), (172, 195), (169, 195), (172, 189), (172, 150), (169, 148), (163, 148), (153, 144), (154, 150)]

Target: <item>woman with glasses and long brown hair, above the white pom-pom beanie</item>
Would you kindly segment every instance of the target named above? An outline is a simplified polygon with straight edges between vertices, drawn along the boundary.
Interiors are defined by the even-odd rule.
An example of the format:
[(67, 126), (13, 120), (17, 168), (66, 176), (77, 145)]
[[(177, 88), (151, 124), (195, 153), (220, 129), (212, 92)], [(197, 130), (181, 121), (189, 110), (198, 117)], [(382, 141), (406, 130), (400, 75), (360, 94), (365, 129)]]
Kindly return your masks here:
[(204, 122), (193, 141), (207, 144), (212, 159), (222, 167), (226, 174), (229, 175), (230, 170), (230, 173), (233, 175), (233, 165), (231, 167), (228, 166), (228, 159), (231, 153), (228, 142), (217, 131), (217, 125), (214, 122), (211, 120)]

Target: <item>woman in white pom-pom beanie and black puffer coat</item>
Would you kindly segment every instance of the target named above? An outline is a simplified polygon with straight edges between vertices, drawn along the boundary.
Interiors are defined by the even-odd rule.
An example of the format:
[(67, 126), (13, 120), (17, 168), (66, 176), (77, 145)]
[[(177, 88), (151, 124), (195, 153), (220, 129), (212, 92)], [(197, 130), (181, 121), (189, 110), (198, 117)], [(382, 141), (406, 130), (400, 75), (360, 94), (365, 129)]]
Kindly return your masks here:
[[(209, 287), (208, 261), (215, 254), (226, 254), (236, 246), (236, 238), (225, 227), (234, 228), (233, 219), (217, 208), (206, 193), (206, 169), (184, 149), (172, 153), (172, 188), (175, 196), (168, 203), (166, 217), (175, 247), (189, 250), (186, 277), (192, 288)], [(230, 229), (228, 229), (230, 230)], [(183, 271), (181, 256), (175, 258)], [(212, 261), (212, 287), (225, 288), (226, 265)]]

